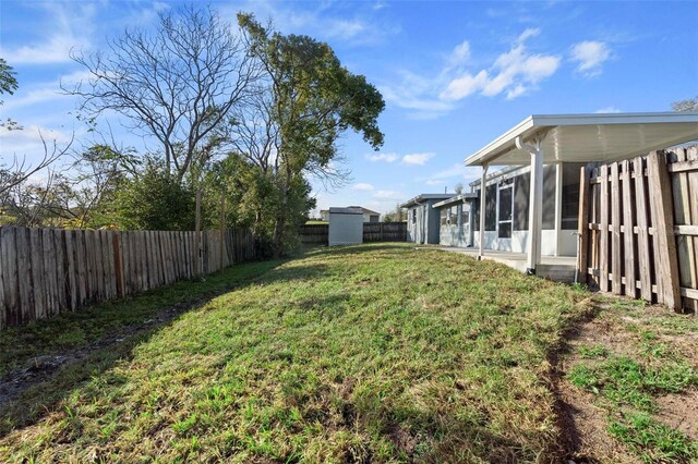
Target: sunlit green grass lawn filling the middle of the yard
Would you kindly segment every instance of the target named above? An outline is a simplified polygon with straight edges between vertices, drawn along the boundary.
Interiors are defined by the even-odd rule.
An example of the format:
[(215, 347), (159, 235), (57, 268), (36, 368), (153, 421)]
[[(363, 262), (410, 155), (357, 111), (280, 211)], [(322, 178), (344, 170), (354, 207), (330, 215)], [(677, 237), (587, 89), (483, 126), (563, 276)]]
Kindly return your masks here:
[[(94, 325), (103, 313), (117, 327), (130, 305), (147, 318), (196, 295), (207, 296), (0, 411), (0, 462), (558, 457), (547, 356), (583, 310), (583, 291), (376, 244), (233, 267), (95, 308)], [(69, 347), (106, 333), (77, 314), (60, 319), (29, 333), (72, 328), (82, 335)], [(2, 346), (26, 341), (22, 333), (2, 334)], [(24, 358), (60, 351), (49, 339), (16, 350)], [(9, 370), (12, 361), (1, 361)]]

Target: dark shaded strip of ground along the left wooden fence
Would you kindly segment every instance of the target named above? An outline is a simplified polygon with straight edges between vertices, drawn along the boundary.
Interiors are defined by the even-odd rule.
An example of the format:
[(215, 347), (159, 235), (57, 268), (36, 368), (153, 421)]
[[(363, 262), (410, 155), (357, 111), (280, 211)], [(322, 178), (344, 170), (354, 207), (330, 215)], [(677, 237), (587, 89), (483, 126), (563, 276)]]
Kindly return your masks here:
[(178, 282), (0, 332), (0, 437), (56, 411), (82, 382), (117, 362), (131, 361), (137, 345), (217, 296), (251, 285), (312, 279), (325, 269), (277, 269), (286, 261), (234, 266), (202, 281)]

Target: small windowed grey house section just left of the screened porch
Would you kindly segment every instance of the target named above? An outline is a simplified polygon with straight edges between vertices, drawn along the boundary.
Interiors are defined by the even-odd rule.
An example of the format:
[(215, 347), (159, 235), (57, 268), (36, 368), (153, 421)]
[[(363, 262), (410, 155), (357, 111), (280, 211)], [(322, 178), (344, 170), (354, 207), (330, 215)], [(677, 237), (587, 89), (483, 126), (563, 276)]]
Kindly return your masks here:
[(471, 202), (478, 194), (466, 193), (435, 203), (438, 211), (438, 243), (445, 246), (472, 246)]

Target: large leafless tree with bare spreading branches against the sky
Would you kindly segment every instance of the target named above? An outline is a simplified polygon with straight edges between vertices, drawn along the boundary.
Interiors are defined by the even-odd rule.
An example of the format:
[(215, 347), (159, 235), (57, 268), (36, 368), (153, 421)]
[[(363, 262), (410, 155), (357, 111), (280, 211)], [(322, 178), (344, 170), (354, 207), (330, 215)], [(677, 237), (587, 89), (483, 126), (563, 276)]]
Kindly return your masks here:
[(92, 117), (116, 111), (154, 137), (178, 180), (219, 146), (217, 129), (249, 97), (258, 76), (240, 34), (212, 9), (161, 13), (156, 30), (127, 29), (108, 52), (72, 53), (91, 78), (63, 89)]

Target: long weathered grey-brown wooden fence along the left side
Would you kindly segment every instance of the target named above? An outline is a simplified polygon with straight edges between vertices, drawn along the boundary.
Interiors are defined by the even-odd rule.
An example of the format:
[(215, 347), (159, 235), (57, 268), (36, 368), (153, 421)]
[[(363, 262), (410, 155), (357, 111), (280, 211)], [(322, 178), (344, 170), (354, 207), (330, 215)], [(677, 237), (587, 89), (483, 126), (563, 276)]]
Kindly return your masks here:
[(195, 235), (1, 227), (0, 329), (254, 258), (248, 230)]

